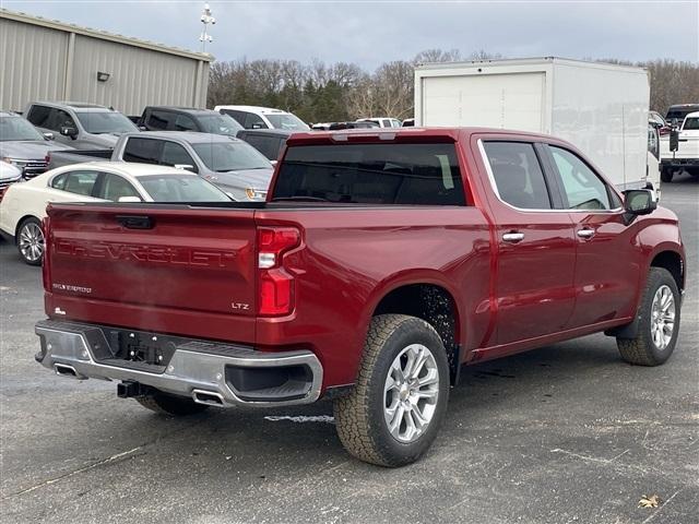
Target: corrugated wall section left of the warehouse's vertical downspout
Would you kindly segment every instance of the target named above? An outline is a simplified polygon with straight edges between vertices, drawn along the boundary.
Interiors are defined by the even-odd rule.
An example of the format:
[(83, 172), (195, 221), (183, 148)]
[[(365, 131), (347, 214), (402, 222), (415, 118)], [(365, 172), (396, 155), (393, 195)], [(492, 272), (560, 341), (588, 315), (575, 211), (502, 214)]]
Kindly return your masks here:
[(29, 100), (63, 97), (68, 38), (68, 33), (0, 19), (0, 109), (21, 111)]

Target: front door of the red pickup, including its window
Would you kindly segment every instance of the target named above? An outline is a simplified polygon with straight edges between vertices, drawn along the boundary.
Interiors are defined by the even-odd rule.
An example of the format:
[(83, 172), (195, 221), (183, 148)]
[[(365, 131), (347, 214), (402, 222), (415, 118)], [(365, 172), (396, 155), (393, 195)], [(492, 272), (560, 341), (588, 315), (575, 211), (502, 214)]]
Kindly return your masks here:
[(620, 198), (573, 151), (557, 145), (545, 151), (576, 230), (576, 307), (568, 326), (632, 315), (642, 264)]

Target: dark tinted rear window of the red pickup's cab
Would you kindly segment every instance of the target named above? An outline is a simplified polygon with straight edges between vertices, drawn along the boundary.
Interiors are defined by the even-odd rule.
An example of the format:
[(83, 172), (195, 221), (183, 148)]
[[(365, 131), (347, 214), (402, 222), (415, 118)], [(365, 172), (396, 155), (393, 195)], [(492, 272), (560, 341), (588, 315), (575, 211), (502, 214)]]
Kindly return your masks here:
[(454, 144), (289, 147), (273, 200), (465, 205)]

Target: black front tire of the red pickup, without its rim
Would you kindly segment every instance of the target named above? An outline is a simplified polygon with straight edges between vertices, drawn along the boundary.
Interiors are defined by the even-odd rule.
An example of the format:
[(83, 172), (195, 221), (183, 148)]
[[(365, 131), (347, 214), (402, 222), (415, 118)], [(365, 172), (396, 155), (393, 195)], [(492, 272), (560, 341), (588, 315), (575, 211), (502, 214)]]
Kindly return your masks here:
[[(653, 299), (663, 286), (667, 286), (672, 291), (675, 315), (670, 341), (665, 347), (659, 347), (653, 342)], [(638, 334), (635, 338), (617, 337), (616, 340), (621, 358), (637, 366), (659, 366), (667, 360), (677, 344), (680, 306), (680, 295), (673, 275), (663, 267), (651, 267), (637, 313)]]

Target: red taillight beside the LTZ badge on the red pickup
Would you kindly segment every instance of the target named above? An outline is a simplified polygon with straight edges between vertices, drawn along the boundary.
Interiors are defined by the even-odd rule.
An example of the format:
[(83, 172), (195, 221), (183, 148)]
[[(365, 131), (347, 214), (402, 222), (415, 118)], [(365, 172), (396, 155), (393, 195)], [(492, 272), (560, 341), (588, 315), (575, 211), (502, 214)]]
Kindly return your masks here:
[(284, 269), (284, 253), (300, 243), (294, 227), (258, 229), (259, 309), (262, 317), (280, 317), (294, 310), (294, 276)]

